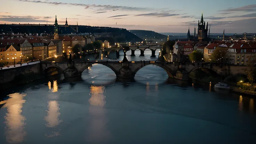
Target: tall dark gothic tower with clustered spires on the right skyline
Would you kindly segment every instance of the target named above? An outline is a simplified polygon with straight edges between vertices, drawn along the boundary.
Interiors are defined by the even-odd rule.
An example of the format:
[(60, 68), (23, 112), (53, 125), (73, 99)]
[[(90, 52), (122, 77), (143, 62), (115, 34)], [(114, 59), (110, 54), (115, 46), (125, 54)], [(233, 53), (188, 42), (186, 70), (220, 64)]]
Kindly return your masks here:
[(203, 21), (203, 12), (201, 21), (198, 20), (198, 39), (199, 41), (207, 40), (207, 32), (208, 32), (208, 22), (207, 25), (205, 25), (205, 21)]

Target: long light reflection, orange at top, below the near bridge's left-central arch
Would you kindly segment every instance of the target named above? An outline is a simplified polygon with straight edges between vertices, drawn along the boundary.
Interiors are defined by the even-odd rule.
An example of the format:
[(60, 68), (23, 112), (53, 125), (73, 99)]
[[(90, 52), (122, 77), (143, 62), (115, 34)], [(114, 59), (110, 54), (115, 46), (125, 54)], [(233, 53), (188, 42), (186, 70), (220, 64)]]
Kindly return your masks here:
[(106, 117), (107, 110), (104, 109), (106, 104), (106, 97), (104, 96), (105, 88), (103, 86), (91, 86), (90, 87), (90, 103), (89, 114), (90, 124), (88, 134), (86, 135), (90, 142), (104, 142), (109, 138), (110, 132), (107, 130), (106, 123), (108, 119)]

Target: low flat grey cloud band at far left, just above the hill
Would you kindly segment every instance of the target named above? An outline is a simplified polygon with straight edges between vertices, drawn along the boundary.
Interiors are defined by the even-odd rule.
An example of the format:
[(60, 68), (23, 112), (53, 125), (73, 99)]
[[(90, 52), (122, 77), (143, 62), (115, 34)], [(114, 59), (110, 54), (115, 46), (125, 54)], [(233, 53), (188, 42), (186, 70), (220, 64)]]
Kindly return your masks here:
[(40, 20), (38, 18), (22, 18), (22, 17), (0, 17), (0, 21), (6, 21), (6, 22), (50, 22), (47, 20)]

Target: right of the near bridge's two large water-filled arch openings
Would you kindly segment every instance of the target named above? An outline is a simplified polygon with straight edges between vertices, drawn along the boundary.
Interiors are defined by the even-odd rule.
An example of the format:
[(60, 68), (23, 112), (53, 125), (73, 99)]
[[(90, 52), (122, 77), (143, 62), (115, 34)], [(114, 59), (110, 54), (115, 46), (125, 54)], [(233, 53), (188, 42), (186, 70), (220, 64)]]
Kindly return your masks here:
[(150, 64), (139, 69), (134, 79), (147, 85), (155, 85), (155, 83), (159, 85), (165, 83), (169, 76), (172, 77), (170, 72), (160, 66)]

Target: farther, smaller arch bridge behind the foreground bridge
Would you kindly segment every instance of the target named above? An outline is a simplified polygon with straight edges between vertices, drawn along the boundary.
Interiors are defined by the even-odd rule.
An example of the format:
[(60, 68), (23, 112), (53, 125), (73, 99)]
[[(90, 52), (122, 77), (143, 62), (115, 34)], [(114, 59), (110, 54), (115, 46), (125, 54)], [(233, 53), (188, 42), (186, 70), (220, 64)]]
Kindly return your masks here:
[(135, 56), (135, 50), (139, 49), (141, 51), (141, 54), (139, 56), (144, 56), (144, 51), (146, 49), (150, 49), (152, 54), (151, 57), (155, 57), (155, 51), (157, 49), (162, 49), (162, 44), (159, 45), (149, 45), (149, 46), (124, 46), (124, 47), (114, 47), (114, 48), (105, 48), (104, 51), (107, 51), (107, 55), (110, 54), (111, 51), (117, 51), (119, 53), (119, 51), (121, 49), (124, 50), (131, 50), (131, 56)]

